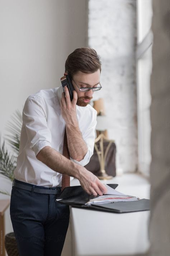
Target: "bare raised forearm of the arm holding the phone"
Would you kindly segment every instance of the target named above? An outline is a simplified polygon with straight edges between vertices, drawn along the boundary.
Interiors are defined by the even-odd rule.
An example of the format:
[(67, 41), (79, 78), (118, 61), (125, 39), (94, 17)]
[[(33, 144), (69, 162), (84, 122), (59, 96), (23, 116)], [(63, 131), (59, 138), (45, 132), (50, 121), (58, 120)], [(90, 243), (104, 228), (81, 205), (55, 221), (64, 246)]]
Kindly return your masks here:
[(70, 157), (76, 161), (81, 161), (88, 151), (88, 147), (82, 138), (79, 124), (66, 125), (67, 142)]

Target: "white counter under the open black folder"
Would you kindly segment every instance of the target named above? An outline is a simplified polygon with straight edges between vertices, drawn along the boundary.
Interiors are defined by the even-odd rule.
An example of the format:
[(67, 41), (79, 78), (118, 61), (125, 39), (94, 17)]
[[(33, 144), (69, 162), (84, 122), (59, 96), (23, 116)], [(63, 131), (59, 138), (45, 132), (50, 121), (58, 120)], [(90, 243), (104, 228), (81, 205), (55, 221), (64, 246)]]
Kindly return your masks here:
[[(135, 174), (115, 177), (116, 190), (139, 198), (149, 198), (148, 181)], [(71, 185), (79, 185), (73, 180)], [(109, 213), (70, 207), (70, 226), (62, 256), (116, 256), (144, 253), (149, 247), (149, 211)]]

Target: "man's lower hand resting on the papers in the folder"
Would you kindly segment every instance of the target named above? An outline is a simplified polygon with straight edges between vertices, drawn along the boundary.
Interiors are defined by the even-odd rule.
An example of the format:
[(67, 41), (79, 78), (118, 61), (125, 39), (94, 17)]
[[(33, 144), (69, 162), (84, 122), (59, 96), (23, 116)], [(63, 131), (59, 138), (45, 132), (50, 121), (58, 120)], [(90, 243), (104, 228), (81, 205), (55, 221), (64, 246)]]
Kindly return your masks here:
[(79, 172), (79, 177), (82, 188), (89, 195), (103, 195), (107, 193), (107, 188), (93, 173), (82, 167), (82, 170)]

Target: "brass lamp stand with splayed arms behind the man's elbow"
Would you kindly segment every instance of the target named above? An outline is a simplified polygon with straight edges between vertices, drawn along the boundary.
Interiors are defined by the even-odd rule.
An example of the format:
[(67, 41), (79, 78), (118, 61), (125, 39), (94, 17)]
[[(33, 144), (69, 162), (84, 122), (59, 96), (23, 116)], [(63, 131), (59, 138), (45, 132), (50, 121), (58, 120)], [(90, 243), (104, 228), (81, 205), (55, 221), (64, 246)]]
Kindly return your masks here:
[[(104, 146), (103, 146), (103, 142), (108, 141), (109, 144), (104, 152)], [(99, 149), (98, 146), (96, 145), (96, 142), (99, 141)], [(97, 175), (97, 177), (100, 180), (109, 180), (111, 178), (113, 178), (113, 176), (107, 175), (106, 171), (105, 171), (105, 160), (109, 151), (109, 148), (112, 144), (112, 142), (114, 142), (113, 140), (108, 140), (103, 133), (101, 133), (96, 139), (95, 139), (95, 150), (97, 152), (98, 158), (99, 158), (99, 163), (100, 163), (100, 173), (99, 175)]]

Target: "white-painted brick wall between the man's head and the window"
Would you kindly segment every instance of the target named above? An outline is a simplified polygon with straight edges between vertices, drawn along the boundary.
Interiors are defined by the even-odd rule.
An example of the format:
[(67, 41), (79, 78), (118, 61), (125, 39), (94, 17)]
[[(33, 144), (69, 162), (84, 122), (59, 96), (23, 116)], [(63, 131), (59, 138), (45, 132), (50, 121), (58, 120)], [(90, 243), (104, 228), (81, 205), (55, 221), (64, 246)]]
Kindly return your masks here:
[(134, 172), (138, 164), (136, 96), (136, 1), (89, 0), (89, 46), (101, 56), (102, 89), (110, 122), (109, 138), (117, 145), (117, 168)]

